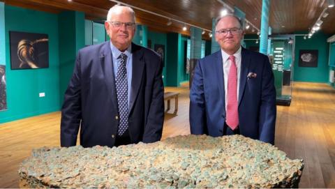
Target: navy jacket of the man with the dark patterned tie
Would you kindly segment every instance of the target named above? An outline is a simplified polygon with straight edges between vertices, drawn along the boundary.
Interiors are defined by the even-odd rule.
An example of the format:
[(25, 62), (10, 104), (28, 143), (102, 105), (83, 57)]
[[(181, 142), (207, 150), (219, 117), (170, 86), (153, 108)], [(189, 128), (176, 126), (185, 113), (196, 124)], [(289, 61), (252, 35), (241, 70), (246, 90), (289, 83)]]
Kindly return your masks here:
[[(155, 52), (132, 44), (133, 75), (128, 130), (133, 143), (161, 139), (163, 64)], [(110, 41), (79, 51), (61, 109), (61, 146), (114, 146), (119, 123)], [(113, 136), (113, 137), (112, 137)]]

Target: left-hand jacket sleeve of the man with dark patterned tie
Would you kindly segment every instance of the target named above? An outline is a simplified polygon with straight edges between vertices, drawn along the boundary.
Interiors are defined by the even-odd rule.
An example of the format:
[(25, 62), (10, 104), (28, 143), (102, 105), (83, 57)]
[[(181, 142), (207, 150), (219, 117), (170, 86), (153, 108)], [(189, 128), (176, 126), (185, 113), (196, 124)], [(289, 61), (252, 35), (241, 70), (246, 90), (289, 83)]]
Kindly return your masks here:
[(61, 146), (75, 146), (82, 119), (80, 53), (75, 61), (73, 76), (68, 84), (61, 108)]

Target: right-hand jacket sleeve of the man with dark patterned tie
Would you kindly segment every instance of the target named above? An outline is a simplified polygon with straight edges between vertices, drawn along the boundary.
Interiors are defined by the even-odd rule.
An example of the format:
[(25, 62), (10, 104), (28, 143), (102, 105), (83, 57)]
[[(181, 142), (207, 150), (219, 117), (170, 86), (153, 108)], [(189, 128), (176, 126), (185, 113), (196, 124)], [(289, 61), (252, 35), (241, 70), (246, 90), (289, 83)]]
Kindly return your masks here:
[(157, 142), (161, 140), (164, 122), (164, 86), (162, 80), (163, 62), (158, 59), (152, 98), (147, 116), (147, 123), (144, 126), (143, 142)]

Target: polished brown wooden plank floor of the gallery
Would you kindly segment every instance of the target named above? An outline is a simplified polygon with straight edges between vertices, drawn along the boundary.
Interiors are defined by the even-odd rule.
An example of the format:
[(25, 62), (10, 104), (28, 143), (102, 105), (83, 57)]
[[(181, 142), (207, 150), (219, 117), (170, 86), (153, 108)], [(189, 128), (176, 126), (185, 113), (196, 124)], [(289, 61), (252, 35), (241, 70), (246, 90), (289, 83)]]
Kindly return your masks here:
[[(179, 91), (178, 115), (165, 114), (163, 138), (188, 135), (188, 87)], [(174, 102), (171, 102), (172, 113)], [(59, 146), (60, 112), (0, 124), (0, 188), (17, 188), (17, 170), (31, 149)], [(301, 188), (335, 188), (335, 89), (295, 83), (290, 107), (278, 106), (276, 142), (290, 158), (303, 158)]]

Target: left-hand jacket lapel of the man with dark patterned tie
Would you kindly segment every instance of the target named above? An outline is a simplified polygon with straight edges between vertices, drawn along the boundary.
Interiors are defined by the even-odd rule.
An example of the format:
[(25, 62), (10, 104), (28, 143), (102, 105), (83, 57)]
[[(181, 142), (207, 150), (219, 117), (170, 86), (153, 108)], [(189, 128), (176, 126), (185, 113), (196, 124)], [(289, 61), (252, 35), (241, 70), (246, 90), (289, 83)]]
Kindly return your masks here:
[(113, 59), (112, 51), (110, 50), (110, 41), (107, 41), (103, 45), (102, 54), (99, 57), (101, 61), (101, 68), (103, 70), (103, 76), (105, 77), (105, 84), (109, 97), (112, 101), (113, 109), (117, 109), (117, 92), (115, 88), (115, 79), (113, 72)]

